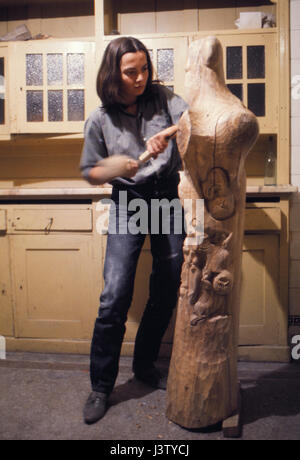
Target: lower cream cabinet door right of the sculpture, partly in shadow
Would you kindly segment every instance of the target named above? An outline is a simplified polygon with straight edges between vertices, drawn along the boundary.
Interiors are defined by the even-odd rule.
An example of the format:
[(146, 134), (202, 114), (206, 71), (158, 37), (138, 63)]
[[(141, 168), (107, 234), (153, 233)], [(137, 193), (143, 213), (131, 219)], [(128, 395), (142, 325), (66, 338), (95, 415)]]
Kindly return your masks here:
[(240, 345), (279, 343), (279, 235), (246, 235), (242, 259)]

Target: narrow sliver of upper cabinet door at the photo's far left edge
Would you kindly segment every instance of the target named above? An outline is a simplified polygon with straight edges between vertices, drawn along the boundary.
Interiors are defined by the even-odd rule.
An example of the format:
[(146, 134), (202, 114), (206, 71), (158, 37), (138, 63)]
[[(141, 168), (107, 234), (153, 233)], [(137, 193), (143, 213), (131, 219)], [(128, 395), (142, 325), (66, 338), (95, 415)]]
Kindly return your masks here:
[(8, 112), (8, 51), (0, 45), (0, 139), (9, 134)]

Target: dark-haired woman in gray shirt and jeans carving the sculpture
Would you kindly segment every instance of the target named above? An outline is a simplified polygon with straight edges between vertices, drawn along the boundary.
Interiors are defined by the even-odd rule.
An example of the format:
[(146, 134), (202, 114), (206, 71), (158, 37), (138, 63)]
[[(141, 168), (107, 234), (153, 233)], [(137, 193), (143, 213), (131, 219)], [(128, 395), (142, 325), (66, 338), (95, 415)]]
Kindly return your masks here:
[[(177, 198), (181, 162), (175, 140), (168, 142), (164, 130), (178, 122), (186, 103), (153, 81), (152, 63), (145, 46), (132, 37), (119, 37), (107, 46), (97, 77), (102, 107), (85, 125), (81, 158), (83, 176), (93, 185), (110, 182), (117, 210), (117, 228), (127, 225), (132, 212), (120, 202), (120, 192), (131, 199)], [(141, 165), (139, 156), (148, 150), (153, 160)], [(109, 160), (107, 160), (107, 158)], [(118, 177), (118, 166), (126, 168)], [(149, 228), (151, 211), (149, 206)], [(154, 366), (162, 337), (177, 302), (184, 235), (174, 232), (174, 209), (170, 211), (170, 234), (151, 234), (153, 269), (150, 295), (136, 336), (133, 372), (137, 379), (156, 388), (166, 378)], [(104, 264), (105, 287), (100, 297), (91, 345), (91, 385), (84, 409), (86, 423), (94, 423), (107, 410), (108, 397), (118, 374), (125, 323), (131, 304), (138, 257), (145, 234), (109, 231)]]

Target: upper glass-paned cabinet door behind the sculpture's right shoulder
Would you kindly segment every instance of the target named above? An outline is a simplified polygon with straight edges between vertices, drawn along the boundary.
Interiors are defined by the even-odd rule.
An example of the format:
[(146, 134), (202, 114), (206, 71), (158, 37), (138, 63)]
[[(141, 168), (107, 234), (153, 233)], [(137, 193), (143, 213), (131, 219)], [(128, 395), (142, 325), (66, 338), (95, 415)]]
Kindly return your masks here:
[(258, 118), (260, 132), (278, 130), (276, 34), (220, 35), (228, 88)]

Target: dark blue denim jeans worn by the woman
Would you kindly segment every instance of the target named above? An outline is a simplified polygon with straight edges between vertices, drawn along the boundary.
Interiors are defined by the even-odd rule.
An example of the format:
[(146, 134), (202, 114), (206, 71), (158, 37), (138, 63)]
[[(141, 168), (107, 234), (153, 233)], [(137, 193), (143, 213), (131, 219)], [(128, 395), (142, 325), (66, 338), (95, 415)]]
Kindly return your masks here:
[[(162, 186), (159, 182), (136, 187), (128, 193), (128, 200), (137, 196), (150, 204), (152, 198), (178, 198), (178, 180)], [(168, 185), (166, 190), (166, 185)], [(128, 221), (132, 212), (119, 211), (118, 190), (114, 188), (112, 199), (116, 204), (117, 218)], [(149, 207), (150, 209), (150, 207)], [(177, 210), (178, 211), (178, 210)], [(121, 217), (120, 217), (121, 216)], [(184, 229), (174, 232), (176, 211), (170, 208), (170, 234), (151, 234), (152, 273), (149, 299), (146, 304), (135, 340), (133, 370), (147, 368), (157, 359), (163, 335), (168, 327), (180, 285), (183, 262), (182, 246)], [(118, 219), (117, 219), (118, 220)], [(124, 222), (123, 222), (124, 223)], [(184, 227), (182, 225), (182, 227)], [(149, 211), (149, 228), (151, 212)], [(108, 234), (104, 264), (104, 290), (100, 296), (99, 314), (95, 322), (91, 346), (90, 375), (93, 391), (109, 394), (115, 384), (125, 323), (133, 296), (136, 267), (145, 234)]]

